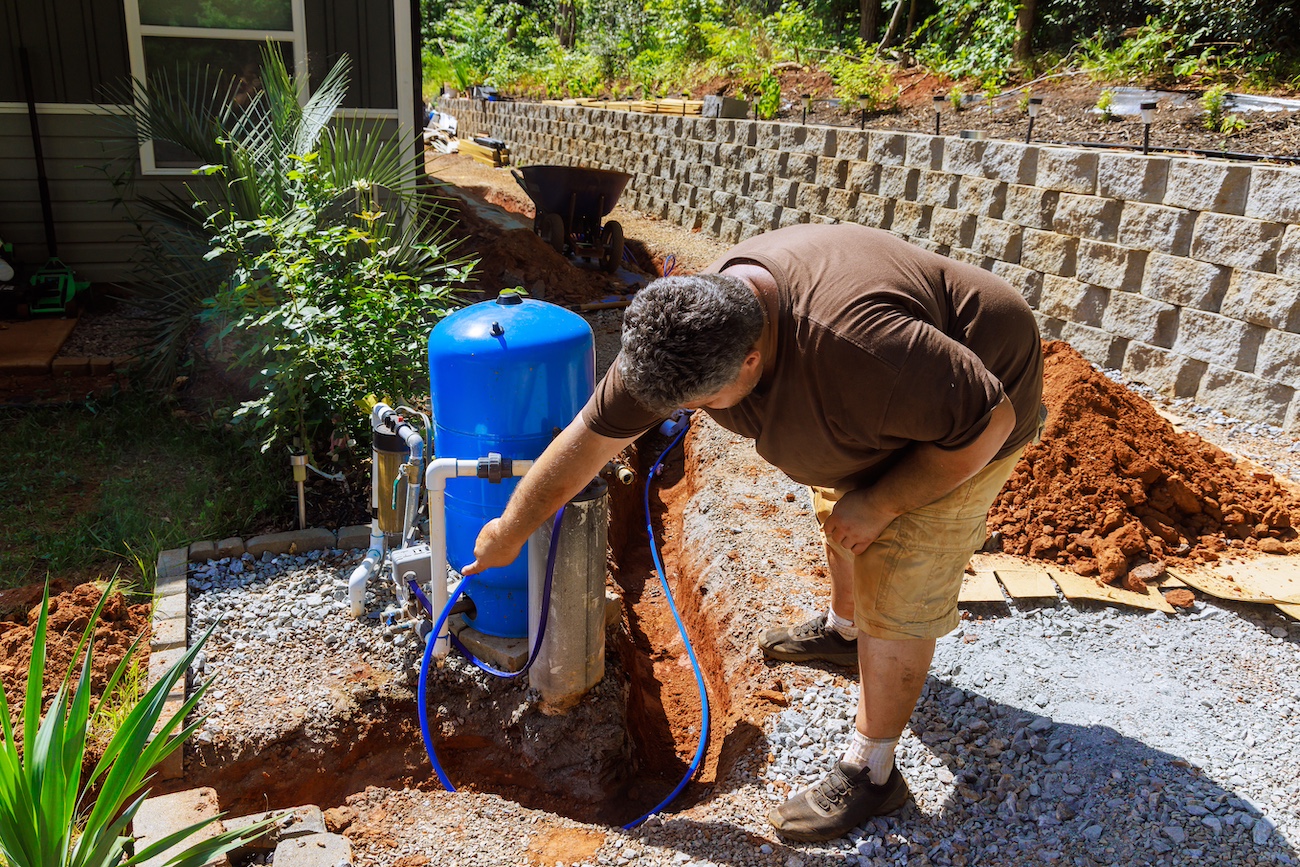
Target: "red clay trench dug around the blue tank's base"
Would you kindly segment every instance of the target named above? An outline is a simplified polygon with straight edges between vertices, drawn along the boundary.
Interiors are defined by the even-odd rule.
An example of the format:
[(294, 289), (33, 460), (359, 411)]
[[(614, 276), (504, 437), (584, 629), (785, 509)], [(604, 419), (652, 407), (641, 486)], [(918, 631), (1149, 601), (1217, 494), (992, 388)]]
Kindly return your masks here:
[[(526, 677), (498, 679), (455, 653), (429, 676), (436, 751), (458, 788), (490, 792), (571, 819), (624, 824), (656, 806), (682, 779), (697, 750), (701, 703), (682, 640), (664, 599), (646, 538), (644, 480), (666, 445), (655, 434), (632, 447), (632, 485), (611, 486), (610, 589), (621, 599), (606, 630), (603, 680), (564, 714), (549, 714)], [(650, 459), (645, 456), (650, 455)], [(714, 724), (705, 762), (677, 799), (690, 803), (728, 776), (759, 734), (736, 725), (732, 682), (702, 612), (682, 551), (681, 510), (693, 490), (679, 448), (651, 486), (650, 510), (689, 640), (708, 684)], [(682, 556), (686, 554), (688, 556)], [(341, 572), (346, 575), (348, 565)], [(437, 789), (417, 721), (419, 656), (400, 671), (365, 663), (316, 675), (286, 671), (260, 701), (292, 702), (302, 677), (325, 681), (328, 698), (273, 733), (229, 733), (187, 746), (183, 786), (212, 786), (230, 815), (317, 803), (343, 805), (368, 786)], [(230, 702), (228, 697), (225, 699)], [(242, 699), (246, 705), (248, 699)], [(238, 723), (238, 718), (234, 720)]]

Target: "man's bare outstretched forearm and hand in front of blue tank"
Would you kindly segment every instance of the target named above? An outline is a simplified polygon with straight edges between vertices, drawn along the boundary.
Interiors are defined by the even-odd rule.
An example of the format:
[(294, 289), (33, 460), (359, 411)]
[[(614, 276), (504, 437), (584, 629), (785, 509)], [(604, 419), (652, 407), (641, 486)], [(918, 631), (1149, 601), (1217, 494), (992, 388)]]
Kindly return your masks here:
[(484, 525), (474, 542), (474, 562), (462, 569), (462, 575), (514, 563), (533, 530), (634, 439), (611, 439), (593, 433), (581, 416), (569, 422), (519, 480), (502, 516)]

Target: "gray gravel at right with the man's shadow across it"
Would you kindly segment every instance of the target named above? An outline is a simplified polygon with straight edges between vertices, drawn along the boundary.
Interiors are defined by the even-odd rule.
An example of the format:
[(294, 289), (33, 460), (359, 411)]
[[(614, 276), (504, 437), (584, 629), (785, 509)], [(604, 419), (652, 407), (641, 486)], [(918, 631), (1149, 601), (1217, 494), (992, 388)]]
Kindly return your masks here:
[[(939, 642), (900, 745), (915, 803), (827, 850), (859, 863), (1296, 863), (1297, 645), (1300, 625), (1266, 607), (1062, 602), (965, 620)], [(837, 760), (857, 685), (823, 675), (792, 699), (767, 727), (772, 803)]]

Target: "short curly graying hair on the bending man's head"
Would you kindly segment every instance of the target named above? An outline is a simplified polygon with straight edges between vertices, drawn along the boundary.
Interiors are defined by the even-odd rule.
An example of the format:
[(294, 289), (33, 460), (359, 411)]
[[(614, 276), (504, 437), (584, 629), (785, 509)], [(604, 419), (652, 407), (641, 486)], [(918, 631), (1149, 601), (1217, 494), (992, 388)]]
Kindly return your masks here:
[(763, 305), (744, 281), (664, 277), (628, 305), (619, 374), (638, 403), (668, 415), (734, 382), (762, 333)]

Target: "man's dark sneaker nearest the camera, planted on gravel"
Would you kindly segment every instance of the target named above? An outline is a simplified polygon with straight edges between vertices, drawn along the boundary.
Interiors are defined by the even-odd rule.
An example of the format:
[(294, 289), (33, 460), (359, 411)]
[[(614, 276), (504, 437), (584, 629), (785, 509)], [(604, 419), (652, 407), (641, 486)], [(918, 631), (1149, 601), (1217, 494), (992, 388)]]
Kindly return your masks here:
[(788, 840), (818, 842), (849, 833), (871, 816), (893, 812), (911, 792), (897, 767), (890, 768), (884, 785), (871, 783), (871, 772), (852, 773), (844, 762), (811, 789), (776, 807), (767, 815), (776, 832)]

